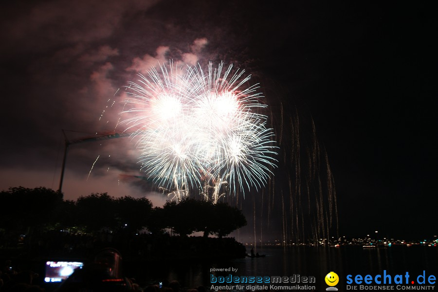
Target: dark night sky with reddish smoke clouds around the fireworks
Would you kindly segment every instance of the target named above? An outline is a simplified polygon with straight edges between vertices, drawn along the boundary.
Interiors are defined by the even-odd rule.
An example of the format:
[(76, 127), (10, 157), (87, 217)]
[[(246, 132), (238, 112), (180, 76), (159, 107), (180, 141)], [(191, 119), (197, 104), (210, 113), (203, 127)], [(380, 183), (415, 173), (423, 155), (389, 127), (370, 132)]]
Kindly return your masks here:
[[(189, 65), (223, 60), (280, 95), (267, 100), (294, 103), (313, 117), (336, 183), (342, 234), (435, 235), (436, 16), (426, 4), (400, 5), (2, 3), (0, 188), (56, 189), (60, 129), (111, 130), (117, 111), (99, 117), (136, 72), (170, 58)], [(72, 147), (65, 197), (141, 196), (119, 176), (135, 174), (127, 165), (136, 155), (125, 140)]]

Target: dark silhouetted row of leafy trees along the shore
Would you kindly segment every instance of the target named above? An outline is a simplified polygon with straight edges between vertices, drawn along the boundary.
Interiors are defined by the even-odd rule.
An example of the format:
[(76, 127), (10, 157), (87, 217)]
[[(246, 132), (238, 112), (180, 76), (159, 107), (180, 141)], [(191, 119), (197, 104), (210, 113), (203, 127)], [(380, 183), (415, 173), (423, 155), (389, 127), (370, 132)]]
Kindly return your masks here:
[(106, 230), (133, 235), (144, 229), (152, 234), (170, 229), (182, 237), (193, 232), (203, 232), (204, 237), (224, 237), (246, 223), (239, 209), (222, 202), (184, 199), (153, 207), (146, 198), (114, 198), (107, 193), (70, 201), (44, 187), (12, 187), (0, 192), (0, 231), (9, 234)]

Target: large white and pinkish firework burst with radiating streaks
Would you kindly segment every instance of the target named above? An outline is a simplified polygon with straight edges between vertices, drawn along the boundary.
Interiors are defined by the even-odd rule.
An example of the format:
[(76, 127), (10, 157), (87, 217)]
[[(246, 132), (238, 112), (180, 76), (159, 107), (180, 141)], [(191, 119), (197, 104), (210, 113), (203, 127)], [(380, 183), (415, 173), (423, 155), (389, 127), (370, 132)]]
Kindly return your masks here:
[(223, 70), (223, 63), (210, 63), (205, 73), (170, 63), (139, 77), (127, 86), (124, 124), (158, 187), (180, 194), (213, 184), (217, 201), (222, 184), (235, 193), (267, 182), (276, 146), (257, 85), (245, 87), (250, 75), (232, 65)]

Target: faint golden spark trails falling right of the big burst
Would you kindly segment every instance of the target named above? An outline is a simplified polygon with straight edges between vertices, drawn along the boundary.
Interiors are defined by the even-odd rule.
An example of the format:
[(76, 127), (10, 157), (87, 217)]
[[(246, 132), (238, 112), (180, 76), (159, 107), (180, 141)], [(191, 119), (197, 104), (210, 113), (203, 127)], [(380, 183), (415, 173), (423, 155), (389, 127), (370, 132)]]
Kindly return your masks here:
[[(329, 235), (339, 235), (336, 192), (328, 153), (317, 139), (312, 119), (303, 122), (296, 108), (285, 109), (285, 112), (295, 113), (295, 116), (284, 119), (284, 132), (290, 131), (292, 139), (283, 139), (283, 153), (280, 154), (285, 161), (285, 168), (280, 166), (280, 169), (284, 169), (288, 175), (276, 178), (281, 183), (274, 182), (274, 177), (269, 179), (269, 195), (260, 205), (263, 209), (264, 203), (268, 203), (266, 207), (269, 229), (272, 220), (270, 217), (275, 216), (273, 210), (279, 204), (283, 218), (283, 224), (279, 228), (286, 244), (302, 243), (306, 238), (312, 237), (314, 244), (326, 245), (331, 240)], [(309, 134), (303, 130), (303, 125), (309, 127)], [(262, 217), (263, 210), (259, 211), (257, 218), (261, 220)], [(262, 236), (260, 233), (260, 237)], [(324, 240), (320, 241), (319, 238)]]

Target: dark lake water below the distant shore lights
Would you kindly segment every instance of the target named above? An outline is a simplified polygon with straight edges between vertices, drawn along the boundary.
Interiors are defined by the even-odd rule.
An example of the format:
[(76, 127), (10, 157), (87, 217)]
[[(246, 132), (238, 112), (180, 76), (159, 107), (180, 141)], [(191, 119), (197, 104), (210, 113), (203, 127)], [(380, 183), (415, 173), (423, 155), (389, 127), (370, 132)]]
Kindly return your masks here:
[[(438, 248), (434, 247), (402, 247), (364, 249), (359, 246), (343, 246), (340, 248), (315, 247), (263, 247), (258, 248), (259, 254), (265, 257), (241, 258), (233, 260), (215, 260), (204, 262), (169, 262), (129, 267), (125, 272), (134, 276), (140, 284), (159, 281), (177, 280), (184, 288), (205, 286), (210, 288), (210, 274), (215, 276), (314, 276), (316, 290), (325, 291), (327, 285), (325, 276), (333, 271), (339, 275), (337, 285), (340, 290), (346, 288), (346, 277), (352, 274), (365, 276), (371, 274), (409, 273), (415, 278), (425, 271), (427, 276), (438, 276)], [(210, 269), (233, 268), (237, 272), (212, 272)], [(436, 285), (436, 284), (435, 284)]]

